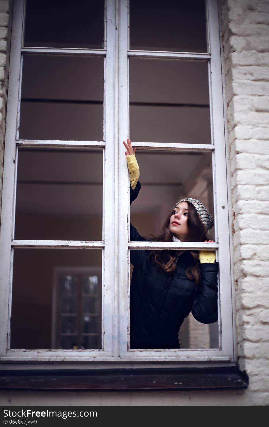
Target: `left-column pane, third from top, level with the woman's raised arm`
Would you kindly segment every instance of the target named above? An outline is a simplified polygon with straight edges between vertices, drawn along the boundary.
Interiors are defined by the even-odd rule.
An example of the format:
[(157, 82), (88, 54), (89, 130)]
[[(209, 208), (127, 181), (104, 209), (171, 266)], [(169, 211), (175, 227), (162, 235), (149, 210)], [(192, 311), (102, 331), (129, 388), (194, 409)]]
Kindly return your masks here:
[(20, 149), (15, 239), (102, 240), (102, 150)]

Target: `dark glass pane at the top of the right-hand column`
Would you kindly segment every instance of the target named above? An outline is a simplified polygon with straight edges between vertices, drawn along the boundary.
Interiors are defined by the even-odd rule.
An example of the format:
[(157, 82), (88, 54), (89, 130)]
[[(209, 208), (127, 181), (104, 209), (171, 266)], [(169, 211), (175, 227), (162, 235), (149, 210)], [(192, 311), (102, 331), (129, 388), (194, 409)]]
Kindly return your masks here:
[(130, 49), (207, 52), (204, 0), (130, 0)]

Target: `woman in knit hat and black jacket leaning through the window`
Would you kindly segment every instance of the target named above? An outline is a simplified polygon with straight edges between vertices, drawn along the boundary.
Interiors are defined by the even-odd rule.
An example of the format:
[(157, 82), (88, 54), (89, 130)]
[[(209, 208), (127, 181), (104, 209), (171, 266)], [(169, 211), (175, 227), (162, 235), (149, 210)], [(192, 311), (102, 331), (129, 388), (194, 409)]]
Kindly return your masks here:
[[(130, 202), (140, 190), (131, 141), (123, 141), (130, 172)], [(177, 202), (156, 237), (164, 242), (213, 242), (213, 218), (199, 200)], [(130, 240), (145, 240), (130, 224)], [(202, 323), (217, 321), (219, 264), (211, 251), (133, 250), (130, 287), (130, 348), (180, 348), (178, 331), (191, 312)]]

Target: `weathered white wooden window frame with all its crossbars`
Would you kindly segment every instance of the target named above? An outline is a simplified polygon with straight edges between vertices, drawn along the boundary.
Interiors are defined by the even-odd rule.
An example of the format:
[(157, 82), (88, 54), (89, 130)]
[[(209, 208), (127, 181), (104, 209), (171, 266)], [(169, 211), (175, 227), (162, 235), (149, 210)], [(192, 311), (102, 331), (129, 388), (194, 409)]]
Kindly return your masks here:
[[(231, 272), (229, 205), (225, 148), (225, 114), (222, 53), (217, 0), (206, 0), (208, 53), (181, 53), (129, 50), (129, 1), (105, 1), (105, 48), (54, 49), (23, 47), (24, 2), (15, 0), (12, 21), (12, 44), (9, 65), (9, 91), (6, 116), (5, 163), (0, 234), (0, 360), (8, 362), (98, 362), (102, 366), (214, 366), (232, 364), (235, 360), (235, 329)], [(23, 55), (68, 54), (104, 57), (104, 137), (103, 141), (19, 140), (18, 123)], [(133, 141), (140, 149), (175, 152), (212, 153), (213, 196), (216, 242), (164, 243), (129, 242), (129, 178), (122, 140), (129, 135), (129, 58), (174, 58), (208, 61), (211, 114), (211, 143), (145, 143)], [(18, 112), (18, 114), (17, 114)], [(15, 194), (18, 148), (102, 148), (103, 215), (102, 241), (14, 240)], [(217, 170), (217, 174), (216, 174)], [(104, 212), (103, 212), (104, 213)], [(109, 214), (108, 214), (109, 213)], [(21, 350), (10, 349), (10, 316), (14, 248), (102, 249), (102, 350)], [(129, 350), (129, 269), (130, 249), (216, 249), (219, 272), (219, 349)], [(105, 333), (104, 333), (105, 332)], [(141, 364), (142, 363), (142, 364)], [(39, 365), (40, 366), (40, 365)], [(85, 365), (83, 365), (85, 366)], [(90, 365), (91, 366), (91, 365)], [(95, 364), (98, 366), (98, 364)], [(132, 365), (133, 366), (133, 365)]]

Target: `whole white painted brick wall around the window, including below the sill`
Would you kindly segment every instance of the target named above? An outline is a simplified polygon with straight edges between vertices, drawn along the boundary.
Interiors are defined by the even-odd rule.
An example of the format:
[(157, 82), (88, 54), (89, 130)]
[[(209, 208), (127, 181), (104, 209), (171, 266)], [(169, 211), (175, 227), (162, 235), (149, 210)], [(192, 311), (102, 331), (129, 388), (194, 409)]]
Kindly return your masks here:
[[(0, 0), (0, 174), (9, 1)], [(228, 102), (240, 392), (5, 392), (1, 404), (265, 405), (269, 403), (269, 0), (221, 0)]]

